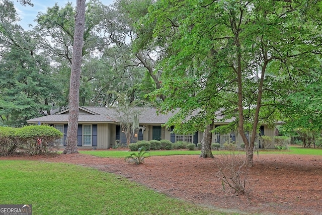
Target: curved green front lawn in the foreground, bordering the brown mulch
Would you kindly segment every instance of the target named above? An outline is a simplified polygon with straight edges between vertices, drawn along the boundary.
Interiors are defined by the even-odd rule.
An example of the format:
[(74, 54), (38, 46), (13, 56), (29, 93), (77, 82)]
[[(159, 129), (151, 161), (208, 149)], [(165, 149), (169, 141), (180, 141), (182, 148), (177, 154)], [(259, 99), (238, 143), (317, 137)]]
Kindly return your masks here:
[(33, 214), (227, 214), (170, 198), (92, 168), (0, 161), (1, 204), (32, 204)]

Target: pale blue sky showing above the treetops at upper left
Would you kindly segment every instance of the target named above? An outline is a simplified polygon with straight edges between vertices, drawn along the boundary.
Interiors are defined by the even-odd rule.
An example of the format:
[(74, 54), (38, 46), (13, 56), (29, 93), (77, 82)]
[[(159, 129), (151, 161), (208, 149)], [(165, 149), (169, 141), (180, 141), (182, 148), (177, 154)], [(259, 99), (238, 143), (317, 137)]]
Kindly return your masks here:
[[(16, 11), (21, 19), (19, 24), (23, 27), (24, 30), (29, 30), (29, 24), (33, 26), (36, 25), (34, 20), (38, 12), (46, 13), (47, 8), (53, 7), (55, 3), (59, 5), (59, 7), (64, 7), (67, 2), (71, 2), (74, 7), (76, 7), (76, 0), (55, 0), (55, 1), (47, 1), (47, 0), (31, 0), (34, 4), (34, 7), (31, 6), (22, 6), (17, 0), (13, 0)], [(110, 5), (113, 3), (113, 0), (100, 0), (104, 5)]]

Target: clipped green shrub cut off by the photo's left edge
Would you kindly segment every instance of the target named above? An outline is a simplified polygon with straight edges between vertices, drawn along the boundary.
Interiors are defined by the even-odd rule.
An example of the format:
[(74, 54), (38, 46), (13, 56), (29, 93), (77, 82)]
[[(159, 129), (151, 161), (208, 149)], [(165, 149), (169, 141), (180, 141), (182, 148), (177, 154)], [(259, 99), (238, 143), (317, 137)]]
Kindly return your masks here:
[(17, 149), (16, 128), (0, 127), (0, 156), (12, 155)]

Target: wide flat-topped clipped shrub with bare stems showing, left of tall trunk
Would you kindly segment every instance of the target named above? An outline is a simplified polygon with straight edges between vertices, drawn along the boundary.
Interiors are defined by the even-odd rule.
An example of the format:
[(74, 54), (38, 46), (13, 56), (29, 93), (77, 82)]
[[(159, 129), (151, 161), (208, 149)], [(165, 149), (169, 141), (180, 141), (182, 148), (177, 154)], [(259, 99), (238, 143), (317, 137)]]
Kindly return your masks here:
[(20, 147), (29, 155), (44, 155), (49, 149), (57, 147), (55, 140), (62, 137), (62, 133), (48, 125), (30, 125), (17, 129)]

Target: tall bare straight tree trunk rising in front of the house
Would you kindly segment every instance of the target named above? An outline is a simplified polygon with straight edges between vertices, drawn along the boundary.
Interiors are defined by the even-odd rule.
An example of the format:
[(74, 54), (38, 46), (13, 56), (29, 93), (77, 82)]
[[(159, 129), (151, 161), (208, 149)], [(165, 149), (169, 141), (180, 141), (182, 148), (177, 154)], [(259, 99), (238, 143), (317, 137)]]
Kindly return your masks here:
[(69, 85), (69, 115), (66, 147), (63, 154), (77, 152), (77, 127), (79, 108), (79, 80), (81, 79), (83, 36), (85, 29), (85, 2), (76, 1), (75, 31), (73, 41), (72, 63)]

